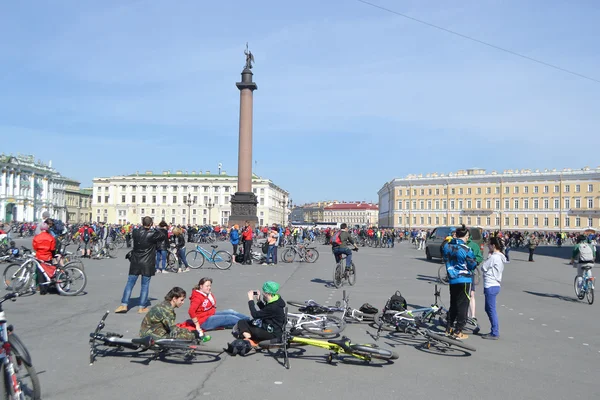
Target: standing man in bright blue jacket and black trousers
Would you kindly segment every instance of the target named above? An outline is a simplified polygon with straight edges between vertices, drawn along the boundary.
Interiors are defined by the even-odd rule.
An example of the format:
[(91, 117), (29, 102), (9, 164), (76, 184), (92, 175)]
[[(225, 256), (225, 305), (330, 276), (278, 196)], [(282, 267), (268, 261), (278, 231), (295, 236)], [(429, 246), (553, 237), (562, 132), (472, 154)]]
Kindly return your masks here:
[[(444, 246), (444, 259), (450, 284), (450, 310), (448, 310), (446, 334), (459, 340), (468, 338), (468, 335), (462, 331), (466, 325), (469, 311), (473, 270), (477, 267), (475, 254), (467, 246), (468, 241), (469, 229), (462, 225), (456, 230), (456, 238)], [(456, 326), (454, 326), (455, 322)]]

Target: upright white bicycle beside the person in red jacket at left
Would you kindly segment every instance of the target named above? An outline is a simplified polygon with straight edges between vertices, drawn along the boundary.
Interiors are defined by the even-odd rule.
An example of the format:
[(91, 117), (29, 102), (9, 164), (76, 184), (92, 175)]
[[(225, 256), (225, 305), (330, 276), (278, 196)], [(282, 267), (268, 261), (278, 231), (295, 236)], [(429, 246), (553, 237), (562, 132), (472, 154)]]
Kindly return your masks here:
[(87, 283), (85, 272), (74, 263), (54, 266), (28, 255), (22, 264), (10, 264), (4, 270), (6, 290), (16, 293), (35, 292), (36, 273), (44, 277), (45, 281), (41, 285), (55, 286), (65, 296), (78, 295)]

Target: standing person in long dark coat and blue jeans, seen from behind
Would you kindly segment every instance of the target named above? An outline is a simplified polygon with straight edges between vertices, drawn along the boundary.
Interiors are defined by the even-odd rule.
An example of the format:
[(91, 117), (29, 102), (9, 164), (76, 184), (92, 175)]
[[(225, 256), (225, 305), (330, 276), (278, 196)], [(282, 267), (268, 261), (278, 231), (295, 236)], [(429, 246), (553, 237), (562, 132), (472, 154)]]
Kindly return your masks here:
[(138, 313), (148, 312), (148, 292), (150, 290), (150, 279), (156, 273), (156, 243), (165, 239), (165, 234), (160, 229), (152, 229), (152, 218), (142, 218), (142, 227), (134, 229), (132, 233), (133, 250), (129, 255), (129, 277), (121, 305), (117, 307), (115, 313), (126, 313), (131, 291), (137, 282), (138, 277), (142, 276), (142, 287), (140, 289), (140, 309)]

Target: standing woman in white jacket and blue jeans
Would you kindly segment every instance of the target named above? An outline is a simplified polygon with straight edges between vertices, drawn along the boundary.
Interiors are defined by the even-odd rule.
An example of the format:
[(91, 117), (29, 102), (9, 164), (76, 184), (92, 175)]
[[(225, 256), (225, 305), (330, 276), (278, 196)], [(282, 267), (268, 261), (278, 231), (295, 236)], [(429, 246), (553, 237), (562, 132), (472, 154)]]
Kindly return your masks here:
[(502, 240), (497, 237), (490, 238), (490, 254), (483, 263), (483, 294), (485, 295), (485, 312), (490, 319), (491, 332), (481, 335), (483, 339), (498, 340), (498, 313), (496, 312), (496, 297), (500, 293), (502, 272), (506, 257), (502, 254)]

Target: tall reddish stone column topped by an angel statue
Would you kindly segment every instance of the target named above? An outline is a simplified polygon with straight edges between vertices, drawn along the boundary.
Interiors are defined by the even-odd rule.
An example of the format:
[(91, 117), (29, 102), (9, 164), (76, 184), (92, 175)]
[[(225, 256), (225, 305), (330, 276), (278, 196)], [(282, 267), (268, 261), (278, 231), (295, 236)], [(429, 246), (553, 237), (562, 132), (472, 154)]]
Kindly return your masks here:
[(252, 82), (252, 63), (254, 56), (246, 43), (246, 66), (242, 71), (242, 81), (236, 86), (240, 90), (240, 144), (238, 148), (238, 191), (231, 197), (231, 216), (229, 226), (245, 221), (254, 227), (258, 223), (256, 216), (256, 195), (252, 192), (252, 103), (253, 92), (258, 89)]

